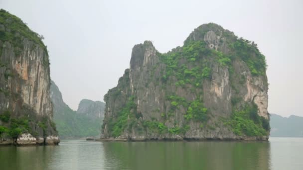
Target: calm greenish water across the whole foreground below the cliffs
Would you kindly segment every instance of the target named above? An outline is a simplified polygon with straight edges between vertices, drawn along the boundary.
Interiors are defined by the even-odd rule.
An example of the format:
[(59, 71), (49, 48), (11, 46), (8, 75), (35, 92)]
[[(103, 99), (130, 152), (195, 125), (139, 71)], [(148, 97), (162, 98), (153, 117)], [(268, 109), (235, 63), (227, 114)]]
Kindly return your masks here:
[(0, 147), (0, 170), (303, 170), (303, 138), (258, 142), (87, 142)]

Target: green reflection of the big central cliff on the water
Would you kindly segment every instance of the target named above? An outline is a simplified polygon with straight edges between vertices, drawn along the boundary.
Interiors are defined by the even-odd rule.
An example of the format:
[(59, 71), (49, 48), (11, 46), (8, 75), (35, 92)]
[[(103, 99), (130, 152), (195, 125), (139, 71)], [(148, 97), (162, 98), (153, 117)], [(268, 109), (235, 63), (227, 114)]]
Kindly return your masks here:
[(269, 170), (270, 143), (103, 143), (105, 166), (131, 170)]

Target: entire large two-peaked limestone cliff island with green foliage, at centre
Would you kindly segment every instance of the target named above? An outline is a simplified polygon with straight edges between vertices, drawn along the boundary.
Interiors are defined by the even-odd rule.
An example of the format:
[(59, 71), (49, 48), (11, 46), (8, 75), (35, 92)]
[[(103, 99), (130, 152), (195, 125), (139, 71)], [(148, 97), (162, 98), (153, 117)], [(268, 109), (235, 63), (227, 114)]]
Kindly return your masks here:
[(104, 96), (108, 140), (267, 140), (265, 57), (209, 23), (160, 54), (135, 45), (130, 69)]

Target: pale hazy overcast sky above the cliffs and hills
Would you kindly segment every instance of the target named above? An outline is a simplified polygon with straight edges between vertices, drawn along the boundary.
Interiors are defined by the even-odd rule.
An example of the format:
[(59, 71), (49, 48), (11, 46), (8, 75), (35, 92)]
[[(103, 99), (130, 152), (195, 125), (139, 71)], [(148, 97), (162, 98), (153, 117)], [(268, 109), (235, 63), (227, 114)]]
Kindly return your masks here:
[(269, 112), (303, 116), (302, 0), (0, 0), (0, 8), (42, 34), (51, 79), (64, 101), (103, 101), (129, 68), (135, 44), (181, 46), (208, 22), (258, 44), (266, 56)]

